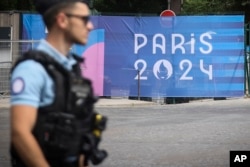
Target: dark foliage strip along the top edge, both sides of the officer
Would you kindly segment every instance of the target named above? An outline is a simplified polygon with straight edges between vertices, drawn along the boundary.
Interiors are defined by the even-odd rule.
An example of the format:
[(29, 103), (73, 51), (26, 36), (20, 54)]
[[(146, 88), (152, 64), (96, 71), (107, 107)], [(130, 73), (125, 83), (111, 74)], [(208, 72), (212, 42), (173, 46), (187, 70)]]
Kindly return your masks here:
[[(33, 11), (34, 0), (0, 0), (0, 11)], [(167, 0), (90, 0), (101, 13), (159, 14), (167, 9)], [(173, 0), (172, 0), (173, 1)], [(183, 0), (182, 15), (233, 14), (250, 15), (250, 0)]]

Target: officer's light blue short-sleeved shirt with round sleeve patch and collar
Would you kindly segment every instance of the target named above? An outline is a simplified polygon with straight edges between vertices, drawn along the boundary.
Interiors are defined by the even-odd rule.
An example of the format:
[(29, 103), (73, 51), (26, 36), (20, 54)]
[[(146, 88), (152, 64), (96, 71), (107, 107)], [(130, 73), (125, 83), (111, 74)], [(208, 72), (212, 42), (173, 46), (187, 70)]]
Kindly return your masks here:
[[(36, 49), (52, 56), (67, 70), (76, 64), (72, 55), (62, 55), (46, 40), (41, 40)], [(11, 105), (47, 106), (55, 98), (54, 86), (52, 78), (40, 63), (34, 60), (21, 62), (11, 76)]]

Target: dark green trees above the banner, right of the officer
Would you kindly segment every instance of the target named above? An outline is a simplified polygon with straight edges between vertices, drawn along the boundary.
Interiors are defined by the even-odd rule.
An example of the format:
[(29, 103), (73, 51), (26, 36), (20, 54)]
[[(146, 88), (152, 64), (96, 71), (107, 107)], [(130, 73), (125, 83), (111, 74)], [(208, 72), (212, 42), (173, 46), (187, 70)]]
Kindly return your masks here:
[[(167, 0), (93, 0), (94, 8), (108, 13), (159, 13)], [(183, 15), (230, 14), (250, 11), (250, 0), (183, 0)]]

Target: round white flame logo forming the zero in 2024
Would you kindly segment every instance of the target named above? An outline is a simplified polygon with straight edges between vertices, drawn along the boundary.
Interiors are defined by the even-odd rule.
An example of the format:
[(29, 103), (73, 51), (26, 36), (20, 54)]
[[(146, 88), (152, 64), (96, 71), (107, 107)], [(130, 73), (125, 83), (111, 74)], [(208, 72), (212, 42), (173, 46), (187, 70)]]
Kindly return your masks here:
[(154, 75), (159, 80), (167, 80), (173, 74), (173, 67), (167, 60), (159, 60), (155, 63), (153, 68)]

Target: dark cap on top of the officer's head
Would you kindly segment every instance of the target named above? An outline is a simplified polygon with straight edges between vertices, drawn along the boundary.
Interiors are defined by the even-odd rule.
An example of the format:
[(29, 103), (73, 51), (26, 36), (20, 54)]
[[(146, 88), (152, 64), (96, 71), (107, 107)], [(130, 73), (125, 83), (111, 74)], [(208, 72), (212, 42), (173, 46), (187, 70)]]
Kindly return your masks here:
[(63, 2), (83, 2), (88, 5), (89, 0), (35, 0), (38, 13), (43, 15), (48, 9)]

